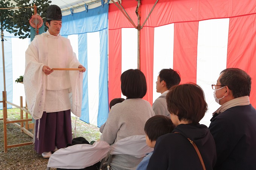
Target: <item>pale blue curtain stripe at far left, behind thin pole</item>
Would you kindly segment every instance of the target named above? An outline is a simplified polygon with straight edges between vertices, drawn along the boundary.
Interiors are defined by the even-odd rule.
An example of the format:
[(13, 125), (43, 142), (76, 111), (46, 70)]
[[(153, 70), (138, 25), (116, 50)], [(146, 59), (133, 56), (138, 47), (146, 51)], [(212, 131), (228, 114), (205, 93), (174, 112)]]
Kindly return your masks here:
[[(5, 37), (4, 43), (4, 54), (5, 54), (5, 87), (7, 101), (12, 102), (12, 40), (11, 38)], [(2, 41), (0, 45), (0, 50), (2, 54)], [(0, 59), (0, 100), (3, 100), (2, 91), (4, 90), (3, 84), (3, 56), (1, 55)], [(12, 108), (11, 105), (7, 105), (7, 108)], [(0, 109), (3, 109), (3, 103), (0, 103)]]

